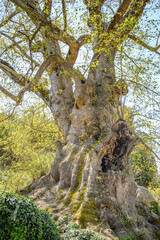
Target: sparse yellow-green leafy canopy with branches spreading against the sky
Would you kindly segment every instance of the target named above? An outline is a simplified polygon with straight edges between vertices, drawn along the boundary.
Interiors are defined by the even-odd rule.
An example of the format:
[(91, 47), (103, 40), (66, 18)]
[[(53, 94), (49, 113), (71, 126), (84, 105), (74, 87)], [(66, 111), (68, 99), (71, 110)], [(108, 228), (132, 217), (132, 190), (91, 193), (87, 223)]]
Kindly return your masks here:
[[(75, 99), (81, 94), (79, 81), (88, 81), (91, 72), (98, 71), (100, 56), (116, 48), (117, 81), (112, 85), (120, 88), (119, 116), (124, 117), (127, 104), (131, 109), (127, 119), (134, 118), (137, 134), (158, 149), (159, 11), (158, 0), (124, 0), (121, 4), (110, 0), (3, 0), (1, 97), (13, 100), (13, 110), (22, 104), (24, 95), (33, 92), (51, 108), (53, 92), (55, 101), (59, 101), (58, 95), (63, 97), (58, 111), (54, 109), (55, 120), (60, 115), (70, 122)], [(107, 72), (107, 65), (103, 68)], [(54, 84), (48, 75), (53, 70), (65, 80), (54, 77), (51, 91)], [(122, 79), (128, 90), (122, 89)], [(58, 125), (62, 130), (60, 120)]]

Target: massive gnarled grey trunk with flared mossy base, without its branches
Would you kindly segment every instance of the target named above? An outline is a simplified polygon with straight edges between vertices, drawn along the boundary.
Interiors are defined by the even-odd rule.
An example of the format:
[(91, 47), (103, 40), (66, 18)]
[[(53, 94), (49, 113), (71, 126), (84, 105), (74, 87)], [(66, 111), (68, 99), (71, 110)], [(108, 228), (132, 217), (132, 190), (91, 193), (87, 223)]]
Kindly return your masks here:
[[(61, 92), (62, 85), (55, 85), (54, 76), (51, 92), (60, 97), (55, 95), (54, 100), (54, 94), (50, 94), (50, 107), (66, 141), (57, 142), (48, 175), (21, 193), (30, 192), (28, 196), (39, 207), (50, 209), (55, 219), (69, 213), (82, 227), (93, 224), (103, 229), (104, 235), (120, 238), (129, 231), (138, 239), (146, 226), (143, 238), (156, 239), (157, 226), (139, 216), (136, 209), (137, 185), (129, 154), (139, 140), (132, 136), (126, 121), (117, 120), (115, 51), (101, 56), (98, 71), (91, 71), (87, 81), (78, 79), (74, 105), (72, 94), (65, 95), (65, 86)], [(61, 76), (59, 82), (63, 84)], [(64, 98), (68, 100), (67, 108), (60, 112)]]

